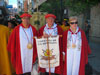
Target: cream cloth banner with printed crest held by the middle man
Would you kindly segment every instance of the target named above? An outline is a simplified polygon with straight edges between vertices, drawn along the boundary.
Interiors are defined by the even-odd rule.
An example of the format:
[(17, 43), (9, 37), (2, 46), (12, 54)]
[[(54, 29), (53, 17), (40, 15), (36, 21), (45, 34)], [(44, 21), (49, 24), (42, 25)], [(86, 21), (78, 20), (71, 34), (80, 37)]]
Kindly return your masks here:
[(47, 47), (47, 38), (36, 38), (36, 45), (41, 68), (49, 68), (48, 56), (50, 56), (50, 67), (59, 66), (59, 36), (48, 38), (49, 49)]

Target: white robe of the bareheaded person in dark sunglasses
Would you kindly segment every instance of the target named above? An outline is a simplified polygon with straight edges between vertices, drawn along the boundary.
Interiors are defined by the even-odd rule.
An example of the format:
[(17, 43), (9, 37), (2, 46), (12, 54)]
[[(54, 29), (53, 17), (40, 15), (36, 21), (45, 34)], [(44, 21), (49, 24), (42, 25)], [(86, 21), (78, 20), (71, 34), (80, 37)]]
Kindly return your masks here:
[[(77, 28), (76, 32), (79, 28)], [(71, 34), (68, 31), (67, 36), (67, 75), (79, 75), (80, 57), (81, 57), (81, 32)], [(72, 48), (72, 42), (76, 48)]]

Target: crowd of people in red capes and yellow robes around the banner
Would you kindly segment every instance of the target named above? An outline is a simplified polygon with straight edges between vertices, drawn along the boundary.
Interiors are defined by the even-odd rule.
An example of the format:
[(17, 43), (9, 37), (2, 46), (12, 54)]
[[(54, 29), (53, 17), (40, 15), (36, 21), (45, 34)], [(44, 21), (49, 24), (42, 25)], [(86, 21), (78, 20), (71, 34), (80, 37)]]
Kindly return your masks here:
[[(21, 23), (15, 20), (0, 24), (0, 75), (31, 75), (33, 64), (38, 58), (36, 40), (33, 37), (59, 38), (59, 66), (42, 68), (38, 66), (40, 75), (85, 75), (85, 65), (91, 49), (85, 32), (78, 26), (76, 16), (64, 19), (62, 24), (56, 21), (54, 14), (46, 14), (46, 24), (38, 31), (30, 24), (32, 16), (23, 13)], [(87, 30), (89, 30), (88, 27)], [(50, 70), (49, 70), (50, 69)], [(35, 75), (35, 73), (34, 73)]]

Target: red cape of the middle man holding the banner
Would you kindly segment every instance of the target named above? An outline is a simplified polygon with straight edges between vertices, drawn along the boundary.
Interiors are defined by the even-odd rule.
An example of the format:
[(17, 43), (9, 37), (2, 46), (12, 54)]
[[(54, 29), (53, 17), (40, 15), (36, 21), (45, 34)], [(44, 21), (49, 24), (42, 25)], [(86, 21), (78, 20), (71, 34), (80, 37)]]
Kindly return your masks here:
[[(44, 25), (43, 27), (41, 27), (39, 29), (39, 33), (38, 36), (43, 36), (43, 31), (46, 25)], [(62, 35), (63, 34), (63, 30), (57, 26), (58, 29), (58, 35)], [(60, 49), (60, 66), (55, 68), (55, 73), (57, 74), (62, 74), (62, 65), (63, 65), (63, 61), (62, 61), (62, 37), (59, 38), (59, 49)], [(46, 72), (45, 68), (40, 68), (39, 67), (39, 72)]]

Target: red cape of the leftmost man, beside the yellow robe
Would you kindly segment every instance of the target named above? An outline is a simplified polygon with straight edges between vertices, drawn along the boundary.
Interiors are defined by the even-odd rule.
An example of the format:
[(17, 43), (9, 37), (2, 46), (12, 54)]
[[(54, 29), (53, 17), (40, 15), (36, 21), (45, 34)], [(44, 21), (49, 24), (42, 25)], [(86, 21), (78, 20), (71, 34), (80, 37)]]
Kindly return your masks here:
[[(8, 46), (7, 49), (8, 51), (11, 52), (11, 62), (16, 70), (16, 74), (23, 74), (22, 71), (22, 61), (21, 61), (21, 51), (20, 51), (20, 36), (19, 36), (19, 28), (22, 24), (16, 26), (13, 30), (13, 32), (10, 35), (10, 38), (8, 40)], [(37, 35), (36, 29), (32, 27), (32, 31), (34, 36)], [(33, 63), (36, 60), (37, 57), (37, 51), (36, 51), (36, 43), (34, 39), (34, 44), (33, 44)]]

